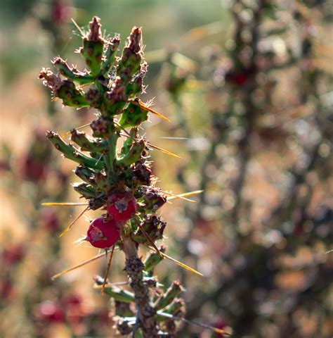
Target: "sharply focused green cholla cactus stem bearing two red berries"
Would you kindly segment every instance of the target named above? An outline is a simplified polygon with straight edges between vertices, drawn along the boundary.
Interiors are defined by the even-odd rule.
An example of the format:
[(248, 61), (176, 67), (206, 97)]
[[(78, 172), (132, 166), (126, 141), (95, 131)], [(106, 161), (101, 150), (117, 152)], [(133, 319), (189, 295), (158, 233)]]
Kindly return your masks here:
[[(105, 284), (106, 277), (96, 278), (96, 284), (103, 285), (115, 300), (117, 329), (121, 334), (133, 332), (133, 337), (173, 337), (174, 320), (181, 319), (185, 311), (183, 300), (178, 298), (183, 287), (173, 282), (162, 292), (152, 277), (153, 268), (166, 256), (165, 247), (157, 249), (155, 244), (166, 227), (157, 215), (166, 203), (166, 194), (155, 187), (148, 161), (152, 145), (138, 134), (138, 126), (152, 111), (137, 98), (144, 91), (147, 70), (141, 29), (133, 27), (121, 57), (116, 56), (119, 43), (117, 36), (109, 40), (102, 37), (99, 19), (94, 17), (79, 49), (89, 70), (70, 67), (60, 57), (53, 60), (58, 74), (48, 68), (41, 70), (39, 78), (54, 99), (61, 99), (65, 106), (98, 111), (90, 125), (92, 136), (77, 129), (72, 130), (70, 143), (55, 132), (48, 131), (46, 136), (63, 156), (79, 163), (75, 174), (83, 182), (73, 187), (88, 201), (87, 208), (105, 211), (103, 217), (91, 222), (86, 240), (97, 248), (111, 249), (110, 260), (115, 247), (125, 253), (124, 270), (133, 293)], [(117, 151), (120, 137), (125, 139)], [(139, 244), (156, 252), (150, 252), (143, 262), (138, 256)], [(150, 289), (155, 289), (153, 295)]]

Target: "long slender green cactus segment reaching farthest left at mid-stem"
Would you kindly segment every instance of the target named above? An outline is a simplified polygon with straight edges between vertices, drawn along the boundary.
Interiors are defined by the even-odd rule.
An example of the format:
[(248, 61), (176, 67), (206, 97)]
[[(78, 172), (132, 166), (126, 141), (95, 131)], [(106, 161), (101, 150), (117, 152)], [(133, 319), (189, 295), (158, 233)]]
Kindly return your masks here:
[(82, 154), (78, 149), (74, 148), (72, 144), (67, 144), (56, 132), (48, 131), (46, 137), (52, 142), (55, 149), (63, 153), (66, 158), (91, 169), (101, 170), (104, 168), (103, 161), (98, 161), (96, 158)]

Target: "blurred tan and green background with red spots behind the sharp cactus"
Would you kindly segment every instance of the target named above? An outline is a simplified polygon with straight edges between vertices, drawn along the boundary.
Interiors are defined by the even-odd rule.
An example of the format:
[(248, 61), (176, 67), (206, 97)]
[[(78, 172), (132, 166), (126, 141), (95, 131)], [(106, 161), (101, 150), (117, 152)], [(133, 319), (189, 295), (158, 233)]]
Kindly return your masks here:
[[(186, 318), (233, 337), (332, 337), (332, 4), (329, 1), (3, 0), (0, 4), (1, 337), (117, 337), (112, 304), (93, 290), (105, 260), (76, 243), (86, 214), (41, 207), (77, 201), (70, 161), (44, 137), (93, 111), (51, 102), (37, 80), (56, 55), (82, 65), (79, 30), (93, 15), (122, 43), (143, 27), (147, 94), (171, 118), (145, 123), (159, 187), (204, 189), (173, 201), (156, 274), (187, 289)], [(144, 252), (142, 254), (145, 254)], [(126, 280), (118, 252), (109, 280)], [(178, 337), (222, 337), (181, 325)]]

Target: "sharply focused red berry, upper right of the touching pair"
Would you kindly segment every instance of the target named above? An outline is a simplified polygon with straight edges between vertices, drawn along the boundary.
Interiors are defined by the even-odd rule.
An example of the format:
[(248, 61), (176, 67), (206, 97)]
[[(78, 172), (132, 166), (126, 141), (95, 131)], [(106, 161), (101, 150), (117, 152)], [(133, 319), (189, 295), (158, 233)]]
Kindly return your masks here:
[(107, 213), (114, 220), (129, 220), (136, 213), (138, 204), (131, 192), (115, 192), (107, 199)]

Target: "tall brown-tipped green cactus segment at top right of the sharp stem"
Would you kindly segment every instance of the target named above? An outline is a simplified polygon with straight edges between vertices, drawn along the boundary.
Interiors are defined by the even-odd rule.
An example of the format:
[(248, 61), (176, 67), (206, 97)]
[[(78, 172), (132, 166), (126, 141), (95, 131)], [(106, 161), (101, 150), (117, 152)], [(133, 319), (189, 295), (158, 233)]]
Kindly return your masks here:
[(141, 51), (141, 29), (133, 27), (131, 35), (127, 38), (128, 42), (122, 51), (117, 75), (122, 78), (124, 83), (129, 83), (133, 75), (140, 69), (142, 60)]

